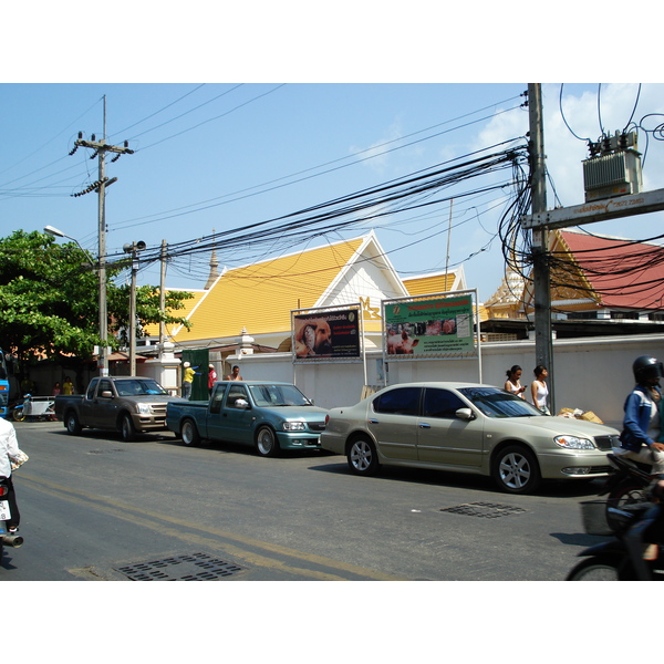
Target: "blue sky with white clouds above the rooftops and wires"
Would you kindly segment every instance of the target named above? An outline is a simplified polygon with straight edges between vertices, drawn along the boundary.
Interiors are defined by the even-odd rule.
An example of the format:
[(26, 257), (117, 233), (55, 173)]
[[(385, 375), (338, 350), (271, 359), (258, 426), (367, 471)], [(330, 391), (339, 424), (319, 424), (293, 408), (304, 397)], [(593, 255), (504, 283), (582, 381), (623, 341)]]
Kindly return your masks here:
[[(106, 160), (107, 251), (144, 240), (156, 247), (194, 240), (273, 219), (308, 206), (430, 168), (450, 158), (515, 138), (522, 145), (528, 112), (520, 107), (527, 83), (339, 84), (184, 83), (0, 85), (0, 235), (46, 224), (96, 253), (97, 196), (73, 197), (97, 178), (97, 159), (79, 149), (103, 134), (128, 139), (133, 155)], [(566, 84), (562, 112), (580, 137), (596, 139), (600, 121), (613, 133), (634, 120), (664, 112), (664, 86)], [(561, 205), (583, 200), (581, 162), (587, 145), (563, 124), (560, 84), (544, 84), (544, 145)], [(599, 107), (598, 107), (599, 96)], [(646, 121), (654, 127), (662, 120)], [(640, 149), (645, 148), (641, 135)], [(650, 141), (646, 189), (664, 185), (664, 145)], [(501, 174), (498, 179), (508, 178)], [(487, 180), (483, 180), (485, 183)], [(491, 180), (497, 181), (497, 180)], [(461, 183), (467, 191), (477, 183)], [(219, 252), (229, 268), (253, 259), (313, 247), (373, 228), (402, 276), (464, 264), (469, 288), (486, 300), (498, 288), (504, 263), (497, 221), (502, 191), (459, 198), (422, 211), (357, 222), (343, 235), (326, 234), (297, 247), (280, 242), (249, 252)], [(558, 204), (553, 190), (549, 207)], [(452, 215), (449, 258), (448, 226)], [(656, 215), (595, 224), (592, 232), (656, 235)], [(169, 264), (167, 284), (201, 288), (209, 253)], [(158, 283), (158, 266), (145, 266), (141, 283)]]

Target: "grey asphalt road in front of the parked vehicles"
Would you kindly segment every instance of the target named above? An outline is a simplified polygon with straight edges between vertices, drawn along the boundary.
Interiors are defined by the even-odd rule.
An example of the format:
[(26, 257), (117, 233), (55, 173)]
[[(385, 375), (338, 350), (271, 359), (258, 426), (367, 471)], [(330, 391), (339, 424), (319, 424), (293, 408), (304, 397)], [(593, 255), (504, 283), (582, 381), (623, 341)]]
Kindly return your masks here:
[(15, 428), (25, 543), (6, 549), (0, 581), (559, 581), (600, 541), (579, 512), (596, 481), (511, 496), (469, 475), (355, 477), (325, 453)]

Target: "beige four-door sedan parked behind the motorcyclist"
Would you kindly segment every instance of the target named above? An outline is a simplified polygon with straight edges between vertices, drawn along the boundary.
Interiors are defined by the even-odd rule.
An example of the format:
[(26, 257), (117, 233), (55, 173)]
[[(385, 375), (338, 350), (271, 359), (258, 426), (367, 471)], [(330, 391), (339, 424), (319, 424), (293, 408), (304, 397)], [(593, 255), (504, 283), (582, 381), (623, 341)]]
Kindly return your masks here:
[(490, 385), (406, 383), (359, 404), (332, 408), (324, 449), (347, 457), (357, 475), (382, 464), (491, 476), (511, 494), (535, 491), (544, 479), (588, 479), (609, 470), (619, 444), (612, 427), (543, 415)]

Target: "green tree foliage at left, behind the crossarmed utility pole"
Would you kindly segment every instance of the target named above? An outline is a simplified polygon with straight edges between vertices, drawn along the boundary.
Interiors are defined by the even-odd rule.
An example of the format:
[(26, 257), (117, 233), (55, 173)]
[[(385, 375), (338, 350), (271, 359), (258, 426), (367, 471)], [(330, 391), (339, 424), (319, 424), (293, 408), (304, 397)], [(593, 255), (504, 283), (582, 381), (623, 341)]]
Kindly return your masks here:
[[(0, 239), (0, 346), (19, 357), (59, 353), (90, 359), (98, 335), (98, 276), (91, 257), (75, 242), (56, 243), (49, 235), (15, 230)], [(117, 347), (115, 336), (128, 328), (128, 287), (116, 287), (112, 279), (121, 269), (108, 266), (106, 299), (108, 345)], [(136, 289), (137, 333), (162, 319), (189, 325), (175, 313), (191, 293), (166, 293), (166, 312), (159, 310), (159, 289)]]

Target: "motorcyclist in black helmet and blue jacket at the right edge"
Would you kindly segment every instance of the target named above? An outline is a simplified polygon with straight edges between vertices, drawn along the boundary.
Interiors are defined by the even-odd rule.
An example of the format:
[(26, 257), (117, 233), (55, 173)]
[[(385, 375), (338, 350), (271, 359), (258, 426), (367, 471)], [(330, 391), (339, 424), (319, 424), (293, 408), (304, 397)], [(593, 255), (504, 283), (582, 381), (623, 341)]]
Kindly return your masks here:
[(664, 365), (656, 357), (641, 355), (632, 365), (636, 385), (625, 400), (621, 447), (614, 453), (652, 466), (651, 473), (664, 473), (664, 444), (657, 443), (661, 433), (660, 378)]

